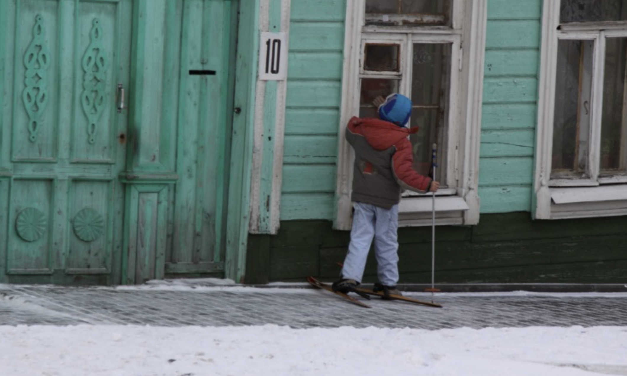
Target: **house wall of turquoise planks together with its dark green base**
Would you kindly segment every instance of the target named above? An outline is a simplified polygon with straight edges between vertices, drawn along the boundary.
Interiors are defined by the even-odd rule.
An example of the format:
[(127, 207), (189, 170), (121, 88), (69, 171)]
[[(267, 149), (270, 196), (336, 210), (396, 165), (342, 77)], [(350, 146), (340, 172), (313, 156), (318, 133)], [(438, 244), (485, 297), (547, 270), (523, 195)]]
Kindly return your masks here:
[[(320, 3), (292, 1), (282, 222), (276, 236), (248, 237), (246, 283), (334, 280), (350, 241), (330, 220), (345, 1)], [(624, 283), (627, 217), (530, 216), (541, 13), (542, 0), (488, 1), (481, 217), (436, 229), (436, 283)], [(401, 228), (399, 243), (400, 282), (430, 283), (431, 228)]]

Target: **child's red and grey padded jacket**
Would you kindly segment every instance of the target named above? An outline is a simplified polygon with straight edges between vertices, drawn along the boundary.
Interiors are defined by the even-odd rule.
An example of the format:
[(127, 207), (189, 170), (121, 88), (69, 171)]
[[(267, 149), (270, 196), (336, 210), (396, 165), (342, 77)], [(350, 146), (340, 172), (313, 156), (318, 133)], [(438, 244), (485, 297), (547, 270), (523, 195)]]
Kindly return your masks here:
[(374, 118), (349, 120), (346, 140), (355, 150), (351, 200), (391, 208), (401, 200), (401, 189), (427, 192), (431, 178), (413, 169), (408, 135), (418, 128), (401, 128)]

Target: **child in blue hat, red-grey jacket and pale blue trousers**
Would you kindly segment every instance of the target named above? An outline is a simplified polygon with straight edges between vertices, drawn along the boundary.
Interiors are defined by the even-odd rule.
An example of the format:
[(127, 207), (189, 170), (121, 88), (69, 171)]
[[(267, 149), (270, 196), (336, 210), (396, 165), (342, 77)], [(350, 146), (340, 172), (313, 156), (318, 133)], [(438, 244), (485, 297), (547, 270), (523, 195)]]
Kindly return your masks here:
[(379, 119), (349, 120), (345, 134), (355, 150), (352, 181), (353, 222), (350, 244), (341, 278), (334, 291), (356, 291), (361, 284), (366, 258), (374, 239), (378, 283), (376, 291), (401, 295), (398, 283), (398, 203), (401, 190), (436, 192), (440, 183), (413, 169), (412, 145), (408, 135), (418, 127), (406, 128), (411, 101), (401, 94), (379, 97)]

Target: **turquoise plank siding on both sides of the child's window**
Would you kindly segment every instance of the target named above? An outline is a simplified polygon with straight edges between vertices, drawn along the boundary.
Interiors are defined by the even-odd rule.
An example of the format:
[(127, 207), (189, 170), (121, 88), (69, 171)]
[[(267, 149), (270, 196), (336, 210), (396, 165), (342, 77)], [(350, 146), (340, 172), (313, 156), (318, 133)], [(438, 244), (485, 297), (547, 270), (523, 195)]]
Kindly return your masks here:
[[(282, 221), (333, 216), (345, 0), (324, 3), (292, 2)], [(488, 1), (482, 213), (531, 210), (541, 8)]]

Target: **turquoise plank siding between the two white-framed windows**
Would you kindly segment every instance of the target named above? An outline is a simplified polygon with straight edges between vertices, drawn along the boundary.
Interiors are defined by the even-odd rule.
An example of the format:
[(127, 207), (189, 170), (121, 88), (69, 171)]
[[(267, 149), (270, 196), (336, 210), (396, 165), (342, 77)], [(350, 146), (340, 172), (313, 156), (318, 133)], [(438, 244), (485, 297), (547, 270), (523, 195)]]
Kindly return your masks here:
[(542, 1), (488, 1), (480, 212), (531, 211)]

